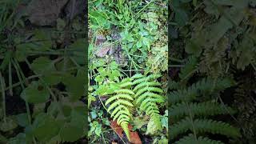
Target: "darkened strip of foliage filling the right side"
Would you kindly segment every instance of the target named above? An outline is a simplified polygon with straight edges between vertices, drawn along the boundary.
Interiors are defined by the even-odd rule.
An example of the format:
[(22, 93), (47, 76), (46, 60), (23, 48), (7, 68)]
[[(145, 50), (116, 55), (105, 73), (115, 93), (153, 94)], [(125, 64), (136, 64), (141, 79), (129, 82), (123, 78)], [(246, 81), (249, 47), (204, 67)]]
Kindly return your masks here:
[[(170, 122), (171, 126), (183, 122), (173, 141), (221, 143), (210, 140), (215, 134), (209, 134), (213, 131), (208, 126), (207, 132), (198, 133), (193, 122), (204, 120), (212, 126), (217, 121), (232, 123), (225, 133), (218, 131), (226, 136), (214, 140), (255, 143), (255, 2), (174, 0), (170, 4), (170, 28), (179, 34), (170, 39), (174, 46), (170, 65), (182, 67), (171, 67)], [(189, 118), (190, 125), (183, 118)], [(193, 134), (184, 136), (189, 133)], [(231, 135), (234, 138), (228, 138)]]

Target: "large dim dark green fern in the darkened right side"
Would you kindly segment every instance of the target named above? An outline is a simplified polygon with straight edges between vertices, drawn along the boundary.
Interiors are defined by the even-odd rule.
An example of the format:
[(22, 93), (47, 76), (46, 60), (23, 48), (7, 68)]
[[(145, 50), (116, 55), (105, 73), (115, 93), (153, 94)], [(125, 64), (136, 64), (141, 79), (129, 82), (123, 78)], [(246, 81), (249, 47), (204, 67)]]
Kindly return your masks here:
[[(183, 90), (170, 92), (170, 118), (173, 124), (169, 127), (170, 139), (174, 140), (184, 134), (189, 136), (178, 140), (178, 144), (184, 143), (221, 143), (202, 137), (201, 134), (222, 134), (229, 138), (240, 136), (239, 130), (230, 124), (211, 119), (219, 114), (234, 114), (229, 106), (211, 101), (211, 96), (221, 90), (234, 86), (230, 78), (212, 79), (203, 78), (192, 86)], [(198, 101), (198, 97), (206, 102)], [(193, 134), (190, 134), (193, 133)]]

